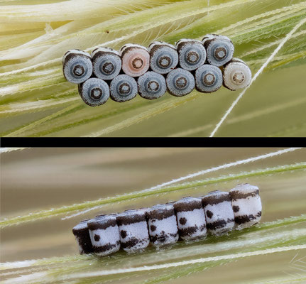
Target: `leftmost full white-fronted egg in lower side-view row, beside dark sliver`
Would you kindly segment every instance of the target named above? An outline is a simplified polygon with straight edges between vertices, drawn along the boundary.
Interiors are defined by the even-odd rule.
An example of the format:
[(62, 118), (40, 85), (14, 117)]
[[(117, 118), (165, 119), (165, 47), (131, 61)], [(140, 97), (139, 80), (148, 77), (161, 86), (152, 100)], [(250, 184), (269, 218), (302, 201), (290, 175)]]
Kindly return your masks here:
[(120, 249), (119, 228), (116, 215), (103, 215), (87, 222), (94, 253), (108, 256)]

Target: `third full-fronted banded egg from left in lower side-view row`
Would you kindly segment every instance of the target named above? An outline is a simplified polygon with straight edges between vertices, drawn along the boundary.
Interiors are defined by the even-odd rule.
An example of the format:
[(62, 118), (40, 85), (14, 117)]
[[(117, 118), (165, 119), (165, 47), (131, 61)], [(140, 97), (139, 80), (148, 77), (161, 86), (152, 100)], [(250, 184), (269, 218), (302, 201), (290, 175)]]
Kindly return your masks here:
[(150, 241), (154, 246), (175, 244), (178, 240), (177, 219), (172, 204), (158, 204), (147, 212)]

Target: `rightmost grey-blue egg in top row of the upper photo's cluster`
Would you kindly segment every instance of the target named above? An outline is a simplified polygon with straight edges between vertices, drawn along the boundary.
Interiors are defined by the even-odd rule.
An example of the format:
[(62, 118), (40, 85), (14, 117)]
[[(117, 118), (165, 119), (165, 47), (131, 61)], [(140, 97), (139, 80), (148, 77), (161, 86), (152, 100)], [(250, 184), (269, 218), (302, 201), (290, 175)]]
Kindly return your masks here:
[(209, 64), (220, 67), (233, 58), (234, 45), (227, 36), (205, 35), (202, 43), (206, 48)]

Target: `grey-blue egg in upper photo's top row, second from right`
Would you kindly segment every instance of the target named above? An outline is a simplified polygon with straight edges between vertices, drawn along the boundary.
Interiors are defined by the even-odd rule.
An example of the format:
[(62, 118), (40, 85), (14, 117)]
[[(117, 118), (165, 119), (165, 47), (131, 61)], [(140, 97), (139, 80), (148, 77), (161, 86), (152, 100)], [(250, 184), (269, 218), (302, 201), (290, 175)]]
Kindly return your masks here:
[(176, 43), (180, 67), (191, 71), (195, 70), (206, 61), (206, 50), (200, 40), (181, 39)]

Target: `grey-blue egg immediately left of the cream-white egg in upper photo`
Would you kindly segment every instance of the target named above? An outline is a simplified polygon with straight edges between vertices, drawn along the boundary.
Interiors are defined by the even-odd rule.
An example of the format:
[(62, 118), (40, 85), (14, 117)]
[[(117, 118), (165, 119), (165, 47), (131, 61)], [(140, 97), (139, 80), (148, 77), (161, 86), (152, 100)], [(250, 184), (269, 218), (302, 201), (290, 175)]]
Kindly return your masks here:
[(195, 70), (195, 89), (199, 92), (216, 92), (222, 82), (222, 72), (217, 66), (204, 64)]

